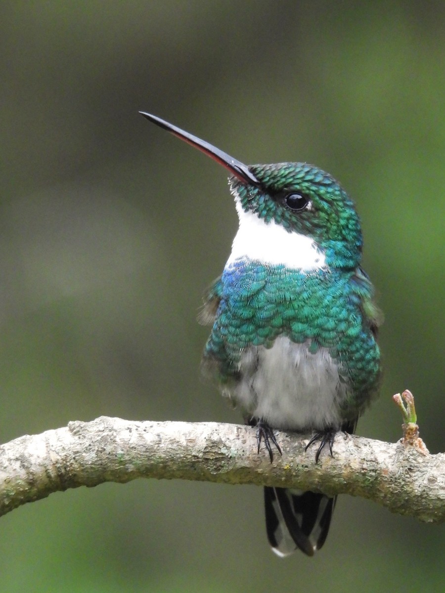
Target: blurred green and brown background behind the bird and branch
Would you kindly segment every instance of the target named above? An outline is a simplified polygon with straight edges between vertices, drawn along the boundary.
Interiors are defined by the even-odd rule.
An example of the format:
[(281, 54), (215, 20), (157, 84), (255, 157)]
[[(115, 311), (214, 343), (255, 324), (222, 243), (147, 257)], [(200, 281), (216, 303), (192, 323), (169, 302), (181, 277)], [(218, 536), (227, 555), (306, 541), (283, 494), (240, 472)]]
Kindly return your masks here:
[[(313, 162), (357, 202), (386, 314), (361, 435), (410, 388), (444, 451), (443, 2), (4, 2), (0, 441), (99, 415), (240, 422), (199, 378), (195, 317), (237, 219), (225, 171)], [(1, 519), (2, 592), (443, 591), (443, 526), (339, 499), (313, 559), (268, 549), (262, 492), (139, 480)]]

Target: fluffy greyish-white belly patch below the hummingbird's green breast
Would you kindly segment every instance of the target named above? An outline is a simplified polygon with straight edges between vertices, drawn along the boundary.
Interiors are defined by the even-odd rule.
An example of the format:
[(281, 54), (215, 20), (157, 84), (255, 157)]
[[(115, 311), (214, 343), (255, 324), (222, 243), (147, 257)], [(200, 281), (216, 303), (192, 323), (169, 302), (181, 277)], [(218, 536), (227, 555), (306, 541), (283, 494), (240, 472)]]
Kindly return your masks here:
[(239, 372), (240, 380), (226, 394), (272, 428), (303, 432), (341, 426), (347, 384), (328, 349), (311, 353), (306, 343), (279, 336), (269, 349), (244, 350)]

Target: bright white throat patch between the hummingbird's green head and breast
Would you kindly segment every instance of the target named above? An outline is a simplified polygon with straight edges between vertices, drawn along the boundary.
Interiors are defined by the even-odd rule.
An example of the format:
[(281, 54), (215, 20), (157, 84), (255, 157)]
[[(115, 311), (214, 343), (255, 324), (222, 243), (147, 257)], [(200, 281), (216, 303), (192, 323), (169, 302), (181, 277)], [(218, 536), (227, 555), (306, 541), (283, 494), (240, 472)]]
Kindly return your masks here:
[(313, 239), (244, 211), (236, 194), (235, 203), (240, 226), (226, 266), (243, 257), (306, 272), (326, 266), (325, 254)]

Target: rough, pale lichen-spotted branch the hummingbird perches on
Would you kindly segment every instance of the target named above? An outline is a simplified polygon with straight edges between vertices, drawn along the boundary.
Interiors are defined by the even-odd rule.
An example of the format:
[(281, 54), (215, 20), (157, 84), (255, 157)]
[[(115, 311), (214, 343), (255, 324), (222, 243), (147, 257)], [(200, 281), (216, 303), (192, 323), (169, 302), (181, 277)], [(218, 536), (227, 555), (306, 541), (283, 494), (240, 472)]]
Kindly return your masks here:
[[(21, 436), (0, 446), (0, 515), (52, 492), (138, 477), (258, 484), (348, 493), (420, 521), (445, 521), (445, 454), (339, 433), (334, 454), (277, 432), (282, 457), (257, 455), (256, 431), (212, 422), (92, 422)], [(317, 445), (314, 445), (316, 447)]]

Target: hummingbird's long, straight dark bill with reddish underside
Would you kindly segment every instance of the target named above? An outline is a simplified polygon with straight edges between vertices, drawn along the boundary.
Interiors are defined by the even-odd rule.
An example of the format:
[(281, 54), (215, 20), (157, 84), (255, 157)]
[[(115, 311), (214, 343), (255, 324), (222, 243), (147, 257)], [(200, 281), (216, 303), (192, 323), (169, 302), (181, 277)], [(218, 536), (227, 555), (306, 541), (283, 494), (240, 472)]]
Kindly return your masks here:
[(212, 146), (208, 142), (205, 142), (205, 140), (201, 140), (199, 138), (196, 138), (196, 136), (192, 136), (192, 134), (185, 132), (179, 127), (173, 126), (173, 124), (164, 121), (160, 117), (151, 115), (150, 113), (145, 113), (145, 111), (139, 111), (139, 113), (144, 117), (147, 117), (147, 119), (150, 120), (150, 122), (155, 123), (159, 127), (163, 127), (164, 130), (167, 130), (167, 132), (170, 132), (171, 134), (176, 136), (176, 138), (180, 138), (181, 140), (187, 142), (187, 144), (195, 146), (195, 148), (198, 148), (198, 150), (204, 152), (204, 154), (208, 155), (214, 161), (219, 162), (223, 167), (228, 169), (228, 171), (230, 171), (231, 174), (239, 178), (239, 180), (243, 183), (253, 183), (256, 186), (260, 184), (255, 175), (253, 175), (253, 173), (250, 173), (247, 165), (244, 165), (242, 162), (237, 161), (236, 158), (230, 157), (225, 152), (222, 152), (222, 150), (220, 150), (219, 148)]

